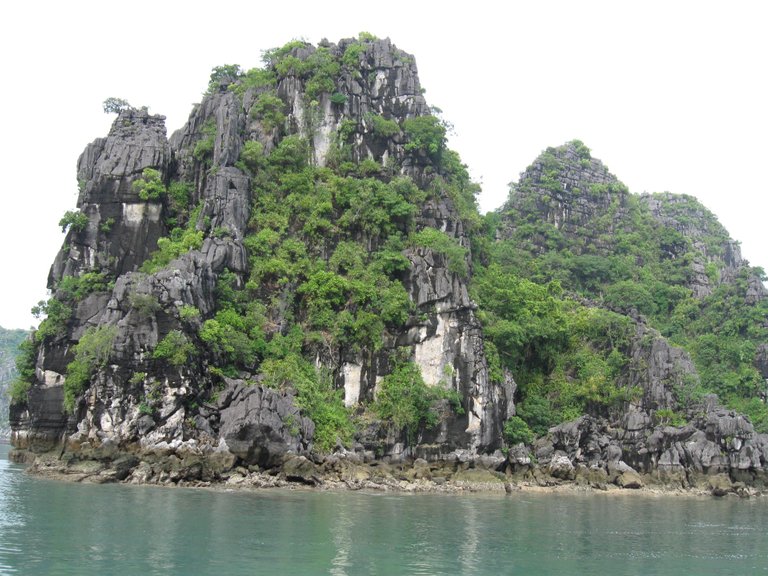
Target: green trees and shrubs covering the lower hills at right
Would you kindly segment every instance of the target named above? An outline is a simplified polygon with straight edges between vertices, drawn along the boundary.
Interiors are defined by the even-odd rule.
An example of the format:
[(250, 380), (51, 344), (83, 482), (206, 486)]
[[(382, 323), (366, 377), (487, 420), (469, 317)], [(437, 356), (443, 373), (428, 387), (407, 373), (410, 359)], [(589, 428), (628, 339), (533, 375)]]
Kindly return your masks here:
[[(729, 238), (688, 196), (643, 199), (620, 182), (593, 184), (572, 191), (574, 202), (580, 195), (591, 197), (594, 214), (588, 222), (555, 225), (553, 218), (544, 218), (563, 209), (563, 171), (595, 169), (592, 162), (579, 141), (547, 149), (537, 171), (513, 187), (507, 204), (476, 228), (481, 232), (473, 239), (476, 261), (494, 264), (479, 267), (474, 290), (500, 366), (512, 370), (520, 385), (518, 415), (540, 436), (557, 422), (583, 412), (604, 413), (631, 398), (634, 391), (618, 390), (613, 383), (627, 363), (631, 338), (629, 321), (621, 314), (636, 311), (692, 354), (701, 384), (676, 389), (681, 410), (702, 393), (716, 392), (768, 431), (768, 409), (753, 401), (764, 387), (754, 359), (757, 345), (768, 338), (760, 320), (768, 314), (768, 302), (747, 304), (745, 299), (749, 277), (761, 271), (743, 268), (733, 283), (717, 283)], [(661, 220), (652, 217), (646, 200), (657, 203)], [(494, 243), (490, 240), (502, 219), (514, 227), (507, 239)], [(696, 236), (681, 230), (695, 230)], [(694, 261), (707, 262), (714, 283), (709, 296), (693, 295)], [(579, 304), (570, 293), (617, 313)], [(680, 412), (662, 411), (657, 417), (683, 421)]]

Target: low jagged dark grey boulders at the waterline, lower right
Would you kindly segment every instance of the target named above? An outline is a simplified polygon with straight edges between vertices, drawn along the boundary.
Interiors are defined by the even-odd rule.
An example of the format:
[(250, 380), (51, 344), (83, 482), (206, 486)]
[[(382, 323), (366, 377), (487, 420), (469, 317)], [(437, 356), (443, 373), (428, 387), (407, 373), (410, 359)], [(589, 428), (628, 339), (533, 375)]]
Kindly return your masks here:
[[(632, 488), (643, 485), (637, 473), (677, 488), (713, 488), (712, 478), (722, 476), (722, 492), (734, 491), (732, 483), (763, 487), (768, 481), (768, 435), (755, 433), (742, 415), (726, 410), (710, 397), (703, 412), (682, 427), (653, 425), (643, 433), (612, 426), (604, 419), (582, 416), (556, 426), (534, 445), (541, 470), (564, 480), (606, 482)], [(519, 458), (510, 457), (517, 465)]]

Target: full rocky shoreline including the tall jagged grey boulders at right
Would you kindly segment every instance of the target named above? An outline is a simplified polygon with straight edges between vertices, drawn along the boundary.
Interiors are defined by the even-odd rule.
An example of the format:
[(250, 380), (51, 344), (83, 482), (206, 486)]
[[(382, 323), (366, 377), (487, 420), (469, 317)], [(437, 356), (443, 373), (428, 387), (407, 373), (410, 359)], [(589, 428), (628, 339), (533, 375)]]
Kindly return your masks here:
[[(267, 419), (272, 413), (258, 412), (260, 427), (248, 418), (228, 424), (227, 416), (220, 434), (185, 440), (134, 435), (116, 442), (81, 431), (64, 441), (17, 435), (9, 458), (28, 464), (31, 474), (88, 483), (404, 493), (768, 494), (768, 436), (714, 396), (684, 426), (654, 426), (639, 410), (613, 423), (582, 416), (550, 428), (530, 446), (486, 454), (436, 444), (407, 446), (395, 436), (381, 436), (383, 429), (327, 454), (293, 443), (282, 420)], [(295, 408), (292, 413), (300, 418)]]

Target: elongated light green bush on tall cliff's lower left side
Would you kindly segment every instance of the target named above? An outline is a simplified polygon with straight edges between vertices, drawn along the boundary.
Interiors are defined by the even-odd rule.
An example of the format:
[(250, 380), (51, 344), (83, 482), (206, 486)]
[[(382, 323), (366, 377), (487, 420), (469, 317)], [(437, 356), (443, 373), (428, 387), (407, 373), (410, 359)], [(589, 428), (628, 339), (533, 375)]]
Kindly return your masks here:
[(104, 368), (117, 336), (117, 326), (91, 327), (85, 331), (74, 348), (75, 358), (67, 364), (64, 380), (64, 409), (72, 412), (77, 397), (83, 393), (91, 377)]

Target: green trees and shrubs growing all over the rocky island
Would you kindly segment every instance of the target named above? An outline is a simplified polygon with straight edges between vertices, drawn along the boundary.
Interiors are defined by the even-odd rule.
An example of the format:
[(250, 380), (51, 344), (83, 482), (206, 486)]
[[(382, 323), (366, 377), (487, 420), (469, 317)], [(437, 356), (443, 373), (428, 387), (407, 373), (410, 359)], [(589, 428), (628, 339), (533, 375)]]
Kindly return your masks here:
[[(503, 431), (508, 445), (530, 444), (555, 424), (584, 413), (609, 415), (637, 399), (637, 390), (619, 384), (635, 337), (628, 315), (635, 313), (685, 346), (701, 375), (701, 385), (681, 379), (675, 388), (679, 408), (657, 410), (659, 423), (684, 424), (685, 410), (707, 390), (747, 411), (759, 429), (766, 429), (768, 412), (757, 400), (764, 382), (753, 361), (758, 344), (768, 337), (768, 304), (744, 305), (754, 270), (720, 284), (727, 276), (721, 258), (727, 236), (692, 199), (660, 197), (663, 218), (654, 219), (647, 199), (606, 176), (570, 190), (564, 200), (566, 171), (600, 169), (589, 149), (574, 141), (567, 148), (548, 149), (512, 190), (503, 210), (482, 218), (476, 204), (479, 188), (459, 156), (447, 149), (450, 127), (437, 115), (402, 122), (387, 113), (344, 119), (333, 135), (327, 165), (313, 165), (312, 140), (286, 135), (288, 107), (278, 95), (283, 93), (278, 83), (292, 78), (304, 86), (302, 128), (311, 133), (322, 119), (323, 102), (330, 99), (339, 107), (347, 102), (339, 75), (344, 70), (361, 78), (372, 40), (361, 34), (341, 54), (295, 41), (265, 52), (265, 69), (243, 73), (239, 66), (225, 65), (213, 70), (209, 93), (226, 89), (237, 94), (241, 104), (250, 106), (250, 118), (271, 131), (275, 146), (266, 140), (244, 142), (236, 164), (252, 186), (252, 213), (243, 238), (247, 270), (219, 274), (215, 307), (205, 315), (193, 306), (179, 307), (184, 331), (172, 330), (157, 344), (152, 359), (158, 366), (180, 368), (192, 360), (196, 346), (204, 347), (210, 374), (291, 391), (302, 414), (315, 423), (318, 449), (348, 444), (355, 421), (333, 374), (317, 366), (338, 367), (352, 355), (386, 361), (386, 346), (428, 315), (414, 306), (403, 278), (411, 266), (407, 255), (429, 249), (445, 259), (452, 273), (470, 278), (472, 272), (490, 376), (498, 382), (508, 370), (518, 382), (517, 415)], [(193, 147), (195, 160), (210, 166), (216, 134), (215, 121), (209, 119)], [(361, 154), (359, 138), (373, 144), (371, 149), (383, 149), (391, 138), (404, 142), (408, 160), (424, 169), (419, 182), (426, 184), (420, 188), (401, 176), (399, 158), (368, 157), (380, 151)], [(235, 234), (223, 227), (211, 230), (200, 207), (190, 210), (191, 183), (170, 182), (166, 188), (160, 172), (147, 169), (134, 190), (145, 201), (164, 202), (171, 229), (143, 272), (156, 272), (199, 249), (206, 234)], [(435, 200), (455, 206), (461, 226), (449, 231), (460, 229), (461, 239), (419, 221), (423, 206)], [(588, 225), (571, 222), (556, 212), (566, 201), (598, 208)], [(581, 212), (573, 213), (578, 219)], [(689, 225), (702, 219), (703, 232), (692, 238)], [(81, 213), (62, 219), (65, 230), (82, 231), (87, 225)], [(500, 230), (505, 239), (497, 242)], [(705, 298), (693, 296), (694, 262), (704, 266), (711, 282), (712, 294)], [(64, 333), (77, 301), (109, 289), (109, 283), (98, 274), (62, 279), (56, 296), (40, 305), (48, 318), (37, 342)], [(151, 294), (131, 294), (129, 304), (146, 317), (159, 311)], [(94, 342), (106, 346), (108, 336), (89, 332), (77, 345), (67, 373), (70, 409), (94, 370), (106, 362), (109, 347)], [(456, 414), (463, 411), (457, 392), (425, 384), (407, 352), (389, 356), (390, 371), (376, 400), (363, 400), (358, 417), (375, 415), (414, 442), (449, 406)], [(149, 386), (146, 374), (140, 374), (132, 383)], [(448, 388), (455, 376), (450, 371), (444, 376)], [(19, 396), (25, 393), (21, 386)], [(153, 393), (147, 392), (143, 410), (153, 410)]]

